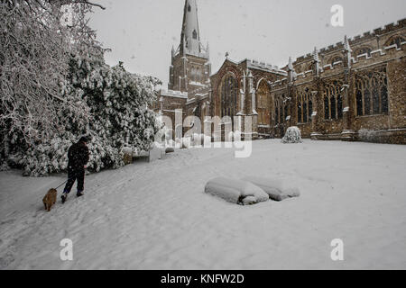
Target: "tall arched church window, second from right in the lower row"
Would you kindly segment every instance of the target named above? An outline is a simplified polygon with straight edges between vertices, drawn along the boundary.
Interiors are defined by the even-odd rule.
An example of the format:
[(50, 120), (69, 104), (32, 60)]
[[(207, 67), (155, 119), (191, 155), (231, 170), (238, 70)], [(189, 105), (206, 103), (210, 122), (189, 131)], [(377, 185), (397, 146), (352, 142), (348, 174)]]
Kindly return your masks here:
[(324, 88), (324, 119), (334, 120), (343, 118), (343, 94), (341, 92), (342, 83), (333, 81), (325, 85)]

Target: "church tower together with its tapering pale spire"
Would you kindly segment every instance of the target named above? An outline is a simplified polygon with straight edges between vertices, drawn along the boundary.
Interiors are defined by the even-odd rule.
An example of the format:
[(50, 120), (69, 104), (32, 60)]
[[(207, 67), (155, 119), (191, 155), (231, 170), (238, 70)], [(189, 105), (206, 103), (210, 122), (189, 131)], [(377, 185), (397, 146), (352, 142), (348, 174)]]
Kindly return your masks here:
[(178, 49), (172, 47), (168, 89), (192, 92), (209, 85), (211, 65), (208, 45), (203, 46), (198, 29), (198, 4), (185, 0)]

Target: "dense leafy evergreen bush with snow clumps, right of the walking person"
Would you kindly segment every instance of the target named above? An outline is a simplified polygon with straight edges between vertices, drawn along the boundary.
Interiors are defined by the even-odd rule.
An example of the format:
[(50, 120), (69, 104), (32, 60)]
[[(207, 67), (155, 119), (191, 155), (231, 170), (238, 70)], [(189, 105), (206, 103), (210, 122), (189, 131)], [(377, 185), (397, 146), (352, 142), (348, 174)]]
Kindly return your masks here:
[[(69, 79), (90, 107), (88, 126), (89, 167), (123, 166), (121, 151), (148, 150), (161, 128), (156, 114), (148, 107), (155, 100), (155, 86), (161, 82), (152, 76), (138, 76), (125, 71), (123, 63), (109, 67), (89, 58), (73, 58)], [(82, 127), (83, 129), (83, 127)]]

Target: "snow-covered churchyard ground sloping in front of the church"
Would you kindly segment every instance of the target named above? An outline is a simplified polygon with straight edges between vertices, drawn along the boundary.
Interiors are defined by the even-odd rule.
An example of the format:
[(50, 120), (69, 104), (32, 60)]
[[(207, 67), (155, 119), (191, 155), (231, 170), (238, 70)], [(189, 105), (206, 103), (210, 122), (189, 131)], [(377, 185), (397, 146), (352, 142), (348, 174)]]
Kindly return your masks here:
[[(406, 147), (340, 141), (176, 150), (88, 175), (43, 210), (65, 175), (0, 173), (1, 269), (406, 269)], [(217, 176), (279, 177), (300, 197), (239, 206), (204, 193)], [(60, 192), (60, 190), (59, 190)], [(59, 195), (60, 196), (60, 195)], [(60, 260), (60, 240), (73, 261)], [(344, 261), (330, 258), (344, 241)]]

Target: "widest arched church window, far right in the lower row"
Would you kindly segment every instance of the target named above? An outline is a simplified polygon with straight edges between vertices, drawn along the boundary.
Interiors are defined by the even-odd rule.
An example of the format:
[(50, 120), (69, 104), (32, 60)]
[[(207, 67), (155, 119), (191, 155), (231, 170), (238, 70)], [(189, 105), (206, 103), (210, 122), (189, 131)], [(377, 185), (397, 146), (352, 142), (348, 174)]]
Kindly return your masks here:
[(355, 115), (387, 114), (388, 82), (386, 68), (355, 76)]

